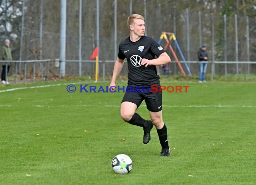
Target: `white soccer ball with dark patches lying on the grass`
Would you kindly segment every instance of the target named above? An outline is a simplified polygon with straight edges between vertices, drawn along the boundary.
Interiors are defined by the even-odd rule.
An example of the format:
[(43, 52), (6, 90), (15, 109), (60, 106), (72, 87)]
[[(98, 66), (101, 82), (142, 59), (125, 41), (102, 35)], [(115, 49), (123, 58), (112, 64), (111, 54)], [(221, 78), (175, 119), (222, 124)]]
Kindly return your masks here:
[(128, 174), (132, 170), (132, 159), (125, 154), (119, 154), (112, 160), (112, 168), (115, 173)]

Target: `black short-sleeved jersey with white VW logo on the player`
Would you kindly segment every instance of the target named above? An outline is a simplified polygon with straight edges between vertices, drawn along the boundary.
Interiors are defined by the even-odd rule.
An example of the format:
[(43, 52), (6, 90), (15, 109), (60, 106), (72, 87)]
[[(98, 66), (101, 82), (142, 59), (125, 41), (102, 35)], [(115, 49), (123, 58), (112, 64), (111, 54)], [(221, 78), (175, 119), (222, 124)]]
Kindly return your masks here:
[(156, 67), (141, 65), (142, 58), (152, 60), (159, 57), (165, 51), (152, 38), (141, 36), (140, 40), (132, 42), (130, 37), (119, 44), (118, 57), (121, 60), (127, 58), (128, 85), (150, 86), (160, 84)]

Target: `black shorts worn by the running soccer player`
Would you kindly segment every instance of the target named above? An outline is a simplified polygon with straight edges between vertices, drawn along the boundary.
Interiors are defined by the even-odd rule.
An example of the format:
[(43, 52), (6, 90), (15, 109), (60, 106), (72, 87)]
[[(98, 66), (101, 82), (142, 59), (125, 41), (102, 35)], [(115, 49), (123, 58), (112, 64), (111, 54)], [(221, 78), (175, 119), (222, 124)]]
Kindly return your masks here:
[(127, 88), (122, 103), (124, 101), (132, 102), (139, 107), (141, 102), (145, 100), (147, 109), (151, 112), (159, 112), (162, 110), (162, 92), (151, 92), (151, 88), (142, 89), (137, 87)]

